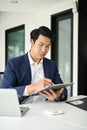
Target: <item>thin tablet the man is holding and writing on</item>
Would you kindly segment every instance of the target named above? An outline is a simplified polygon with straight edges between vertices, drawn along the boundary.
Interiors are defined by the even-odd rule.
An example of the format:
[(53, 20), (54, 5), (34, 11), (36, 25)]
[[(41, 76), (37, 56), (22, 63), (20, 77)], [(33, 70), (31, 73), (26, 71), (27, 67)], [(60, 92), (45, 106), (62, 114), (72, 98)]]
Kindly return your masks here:
[(50, 89), (58, 90), (60, 88), (68, 87), (68, 86), (71, 86), (73, 84), (74, 84), (73, 82), (70, 82), (70, 83), (61, 83), (61, 84), (53, 84), (53, 85), (46, 86), (46, 87), (44, 87), (44, 88), (42, 88), (42, 89), (34, 92), (33, 94), (31, 94), (31, 96), (38, 95), (40, 92), (43, 92), (43, 91), (46, 91), (46, 90), (50, 90)]

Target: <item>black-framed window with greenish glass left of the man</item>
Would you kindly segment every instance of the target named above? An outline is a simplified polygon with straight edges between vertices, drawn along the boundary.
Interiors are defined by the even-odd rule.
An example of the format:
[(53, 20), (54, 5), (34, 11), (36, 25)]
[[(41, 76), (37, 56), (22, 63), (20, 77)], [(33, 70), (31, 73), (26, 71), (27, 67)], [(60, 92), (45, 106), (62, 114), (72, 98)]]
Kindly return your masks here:
[(6, 64), (8, 59), (24, 54), (25, 25), (17, 26), (5, 31), (6, 36)]

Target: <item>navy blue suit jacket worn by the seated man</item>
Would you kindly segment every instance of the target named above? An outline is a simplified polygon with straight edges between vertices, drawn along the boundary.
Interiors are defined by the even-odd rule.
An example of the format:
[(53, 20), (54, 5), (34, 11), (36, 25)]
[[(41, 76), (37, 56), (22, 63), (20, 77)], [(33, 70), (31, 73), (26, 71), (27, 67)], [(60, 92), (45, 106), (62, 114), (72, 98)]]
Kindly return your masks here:
[[(52, 79), (55, 84), (62, 83), (57, 66), (53, 60), (44, 58), (43, 68), (46, 78)], [(31, 84), (31, 69), (28, 53), (9, 60), (4, 72), (2, 87), (15, 88), (18, 93), (19, 101), (21, 102), (25, 98), (23, 97), (24, 89), (26, 85), (29, 84)], [(66, 98), (67, 90), (64, 89), (63, 98), (61, 100), (66, 100)]]

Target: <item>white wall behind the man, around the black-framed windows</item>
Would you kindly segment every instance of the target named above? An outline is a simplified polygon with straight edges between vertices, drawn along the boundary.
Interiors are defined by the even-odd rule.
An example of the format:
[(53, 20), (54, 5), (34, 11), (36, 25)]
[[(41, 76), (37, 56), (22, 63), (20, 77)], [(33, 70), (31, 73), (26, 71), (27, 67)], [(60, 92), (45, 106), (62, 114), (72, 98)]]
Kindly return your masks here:
[[(29, 33), (32, 29), (45, 25), (50, 28), (51, 15), (58, 12), (74, 8), (73, 0), (65, 0), (65, 2), (52, 5), (49, 9), (38, 12), (38, 14), (18, 13), (18, 12), (1, 12), (0, 13), (0, 72), (5, 69), (5, 30), (25, 24), (25, 52), (30, 49)], [(77, 27), (78, 27), (78, 13), (74, 14), (74, 76), (73, 79), (77, 85)], [(73, 49), (74, 50), (74, 49)], [(50, 58), (50, 51), (47, 54)], [(77, 87), (74, 85), (74, 95), (77, 95)]]

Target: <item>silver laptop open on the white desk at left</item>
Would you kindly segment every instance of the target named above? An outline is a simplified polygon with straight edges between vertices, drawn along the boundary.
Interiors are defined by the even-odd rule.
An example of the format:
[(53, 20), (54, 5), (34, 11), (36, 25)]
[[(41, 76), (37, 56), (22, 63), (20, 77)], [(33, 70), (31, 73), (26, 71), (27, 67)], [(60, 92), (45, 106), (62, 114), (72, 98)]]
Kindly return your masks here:
[(28, 107), (20, 107), (16, 89), (0, 88), (0, 116), (23, 116)]

